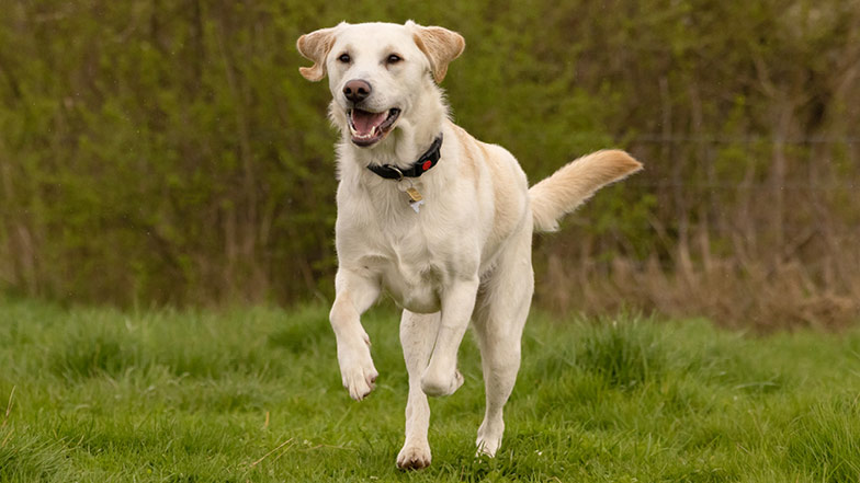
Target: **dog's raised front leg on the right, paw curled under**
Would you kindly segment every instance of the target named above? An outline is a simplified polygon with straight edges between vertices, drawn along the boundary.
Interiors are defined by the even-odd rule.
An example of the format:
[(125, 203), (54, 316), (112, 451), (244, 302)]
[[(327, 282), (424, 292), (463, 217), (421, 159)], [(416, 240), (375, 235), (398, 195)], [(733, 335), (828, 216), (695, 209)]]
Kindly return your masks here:
[(435, 336), (430, 363), (421, 376), (421, 390), (427, 395), (449, 395), (463, 386), (456, 368), (460, 343), (468, 327), (478, 291), (478, 277), (456, 280), (442, 295), (442, 320)]

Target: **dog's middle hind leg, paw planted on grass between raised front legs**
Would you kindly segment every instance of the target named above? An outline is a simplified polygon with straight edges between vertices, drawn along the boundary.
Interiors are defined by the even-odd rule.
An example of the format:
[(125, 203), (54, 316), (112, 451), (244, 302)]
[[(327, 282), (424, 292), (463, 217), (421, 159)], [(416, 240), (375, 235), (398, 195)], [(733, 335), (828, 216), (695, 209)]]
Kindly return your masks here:
[(404, 310), (400, 319), (400, 345), (409, 372), (409, 399), (406, 402), (406, 442), (397, 455), (397, 468), (421, 469), (430, 464), (430, 405), (421, 390), (421, 375), (430, 360), (439, 330), (440, 314), (419, 314)]

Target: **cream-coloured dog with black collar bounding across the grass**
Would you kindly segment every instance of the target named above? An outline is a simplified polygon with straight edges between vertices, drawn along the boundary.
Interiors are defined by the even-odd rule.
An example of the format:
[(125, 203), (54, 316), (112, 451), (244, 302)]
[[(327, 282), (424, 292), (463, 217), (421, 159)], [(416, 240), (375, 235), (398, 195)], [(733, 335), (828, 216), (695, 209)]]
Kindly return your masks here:
[(642, 164), (624, 151), (598, 151), (529, 188), (510, 152), (450, 119), (439, 83), (465, 48), (450, 30), (344, 22), (302, 35), (296, 46), (314, 62), (299, 68), (302, 76), (328, 76), (328, 115), (341, 134), (329, 320), (343, 386), (357, 401), (374, 389), (377, 372), (360, 318), (385, 288), (403, 307), (409, 373), (397, 467), (426, 468), (427, 398), (463, 384), (456, 358), (472, 322), (486, 387), (477, 453), (493, 457), (531, 306), (532, 233), (556, 230), (565, 214)]

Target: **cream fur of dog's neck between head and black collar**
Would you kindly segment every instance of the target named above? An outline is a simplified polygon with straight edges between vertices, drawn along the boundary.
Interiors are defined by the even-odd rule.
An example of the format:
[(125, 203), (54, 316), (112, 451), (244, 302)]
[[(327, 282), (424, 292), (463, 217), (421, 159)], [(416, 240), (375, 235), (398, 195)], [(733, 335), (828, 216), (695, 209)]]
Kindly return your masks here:
[(370, 164), (407, 169), (430, 148), (446, 119), (448, 106), (439, 92), (438, 95), (428, 95), (422, 102), (409, 106), (395, 129), (376, 146), (360, 148), (352, 143), (349, 133), (344, 131), (338, 149), (341, 152), (349, 150), (348, 158), (353, 159), (358, 168), (365, 171), (369, 171), (366, 166)]

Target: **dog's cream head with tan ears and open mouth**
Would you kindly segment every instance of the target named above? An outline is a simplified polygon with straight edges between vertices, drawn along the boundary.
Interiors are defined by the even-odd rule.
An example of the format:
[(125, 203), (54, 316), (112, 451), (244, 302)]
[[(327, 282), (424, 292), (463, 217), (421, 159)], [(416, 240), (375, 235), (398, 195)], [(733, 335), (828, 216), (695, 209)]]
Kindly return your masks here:
[(355, 146), (371, 147), (412, 111), (423, 90), (444, 79), (448, 65), (463, 51), (463, 37), (412, 21), (341, 23), (302, 35), (298, 51), (314, 61), (299, 72), (310, 81), (327, 74), (331, 118)]

